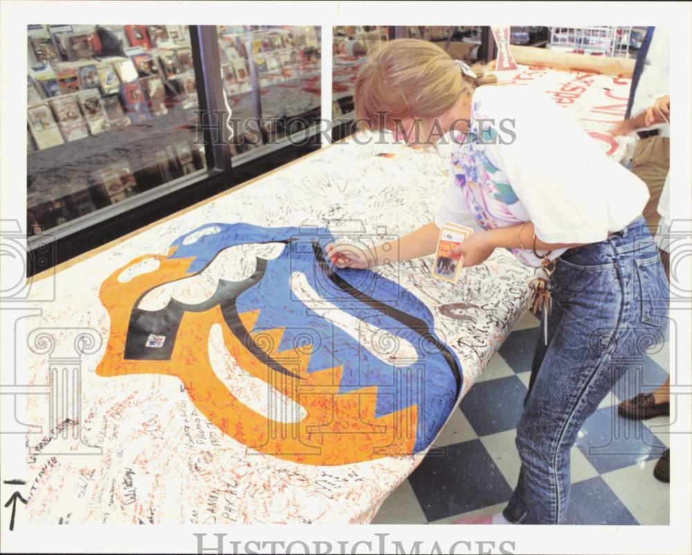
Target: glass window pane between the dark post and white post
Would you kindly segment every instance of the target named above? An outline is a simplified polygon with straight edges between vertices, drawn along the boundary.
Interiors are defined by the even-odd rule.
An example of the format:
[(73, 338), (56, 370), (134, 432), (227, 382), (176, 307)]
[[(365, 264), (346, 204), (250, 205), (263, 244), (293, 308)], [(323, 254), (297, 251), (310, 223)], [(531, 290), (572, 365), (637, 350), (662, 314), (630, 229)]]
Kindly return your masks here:
[(217, 34), (233, 165), (318, 134), (319, 27), (219, 25)]

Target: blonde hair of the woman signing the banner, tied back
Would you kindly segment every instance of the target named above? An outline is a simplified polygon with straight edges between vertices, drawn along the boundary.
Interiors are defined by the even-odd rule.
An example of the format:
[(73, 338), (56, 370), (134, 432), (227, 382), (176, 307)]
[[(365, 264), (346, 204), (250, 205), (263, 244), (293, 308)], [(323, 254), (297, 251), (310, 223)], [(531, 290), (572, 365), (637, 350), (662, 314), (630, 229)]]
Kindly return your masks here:
[(391, 129), (397, 120), (432, 120), (451, 109), (466, 92), (496, 78), (464, 75), (437, 44), (419, 39), (394, 39), (370, 51), (358, 71), (354, 104), (358, 129)]

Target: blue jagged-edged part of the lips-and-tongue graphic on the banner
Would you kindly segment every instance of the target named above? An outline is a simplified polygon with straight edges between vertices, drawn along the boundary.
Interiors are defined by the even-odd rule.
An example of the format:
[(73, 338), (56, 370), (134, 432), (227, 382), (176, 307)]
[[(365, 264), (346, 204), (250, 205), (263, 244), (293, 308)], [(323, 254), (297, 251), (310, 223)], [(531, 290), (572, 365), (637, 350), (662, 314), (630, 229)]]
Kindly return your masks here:
[[(199, 237), (185, 245), (185, 237), (210, 227), (220, 231)], [(427, 448), (444, 425), (455, 406), (457, 381), (450, 365), (439, 349), (431, 348), (415, 329), (368, 306), (363, 300), (340, 289), (320, 269), (313, 245), (325, 248), (334, 242), (327, 228), (282, 227), (264, 228), (250, 224), (205, 224), (178, 237), (172, 247), (176, 251), (170, 258), (192, 258), (187, 273), (202, 271), (219, 252), (240, 244), (286, 242), (284, 250), (274, 260), (268, 260), (266, 272), (260, 282), (237, 298), (239, 312), (260, 310), (251, 331), (284, 327), (279, 351), (311, 343), (313, 352), (308, 372), (319, 372), (343, 365), (339, 383), (340, 392), (347, 393), (376, 385), (376, 416), (418, 406), (414, 453)], [(425, 322), (431, 338), (444, 343), (434, 332), (434, 320), (428, 308), (415, 295), (399, 284), (372, 271), (334, 269), (356, 289), (394, 309)], [(331, 324), (296, 299), (291, 293), (291, 274), (301, 272), (310, 286), (325, 300), (340, 310), (365, 320), (371, 325), (390, 331), (394, 336), (414, 345), (418, 361), (408, 367), (394, 367), (384, 363), (365, 349), (361, 343)], [(457, 356), (447, 349), (462, 372)], [(463, 383), (463, 381), (462, 381)]]

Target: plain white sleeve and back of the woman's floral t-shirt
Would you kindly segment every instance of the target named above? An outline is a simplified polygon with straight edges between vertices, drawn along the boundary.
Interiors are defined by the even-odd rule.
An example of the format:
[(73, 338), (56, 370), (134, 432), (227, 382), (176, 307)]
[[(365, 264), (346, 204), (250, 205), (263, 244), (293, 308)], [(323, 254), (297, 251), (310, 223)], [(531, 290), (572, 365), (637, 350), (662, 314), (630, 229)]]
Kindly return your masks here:
[(511, 89), (484, 98), (491, 113), (515, 120), (516, 138), (486, 145), (485, 152), (507, 175), (539, 239), (600, 242), (641, 215), (648, 199), (641, 179), (609, 158), (554, 102)]

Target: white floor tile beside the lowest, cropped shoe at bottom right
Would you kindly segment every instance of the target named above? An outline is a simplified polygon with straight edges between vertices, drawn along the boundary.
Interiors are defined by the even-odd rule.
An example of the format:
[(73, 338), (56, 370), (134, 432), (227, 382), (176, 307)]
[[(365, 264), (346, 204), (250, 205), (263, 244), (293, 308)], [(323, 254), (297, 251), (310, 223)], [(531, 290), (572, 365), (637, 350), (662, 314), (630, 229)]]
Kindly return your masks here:
[(654, 466), (656, 460), (601, 474), (601, 477), (639, 524), (668, 525), (670, 485), (653, 477)]

